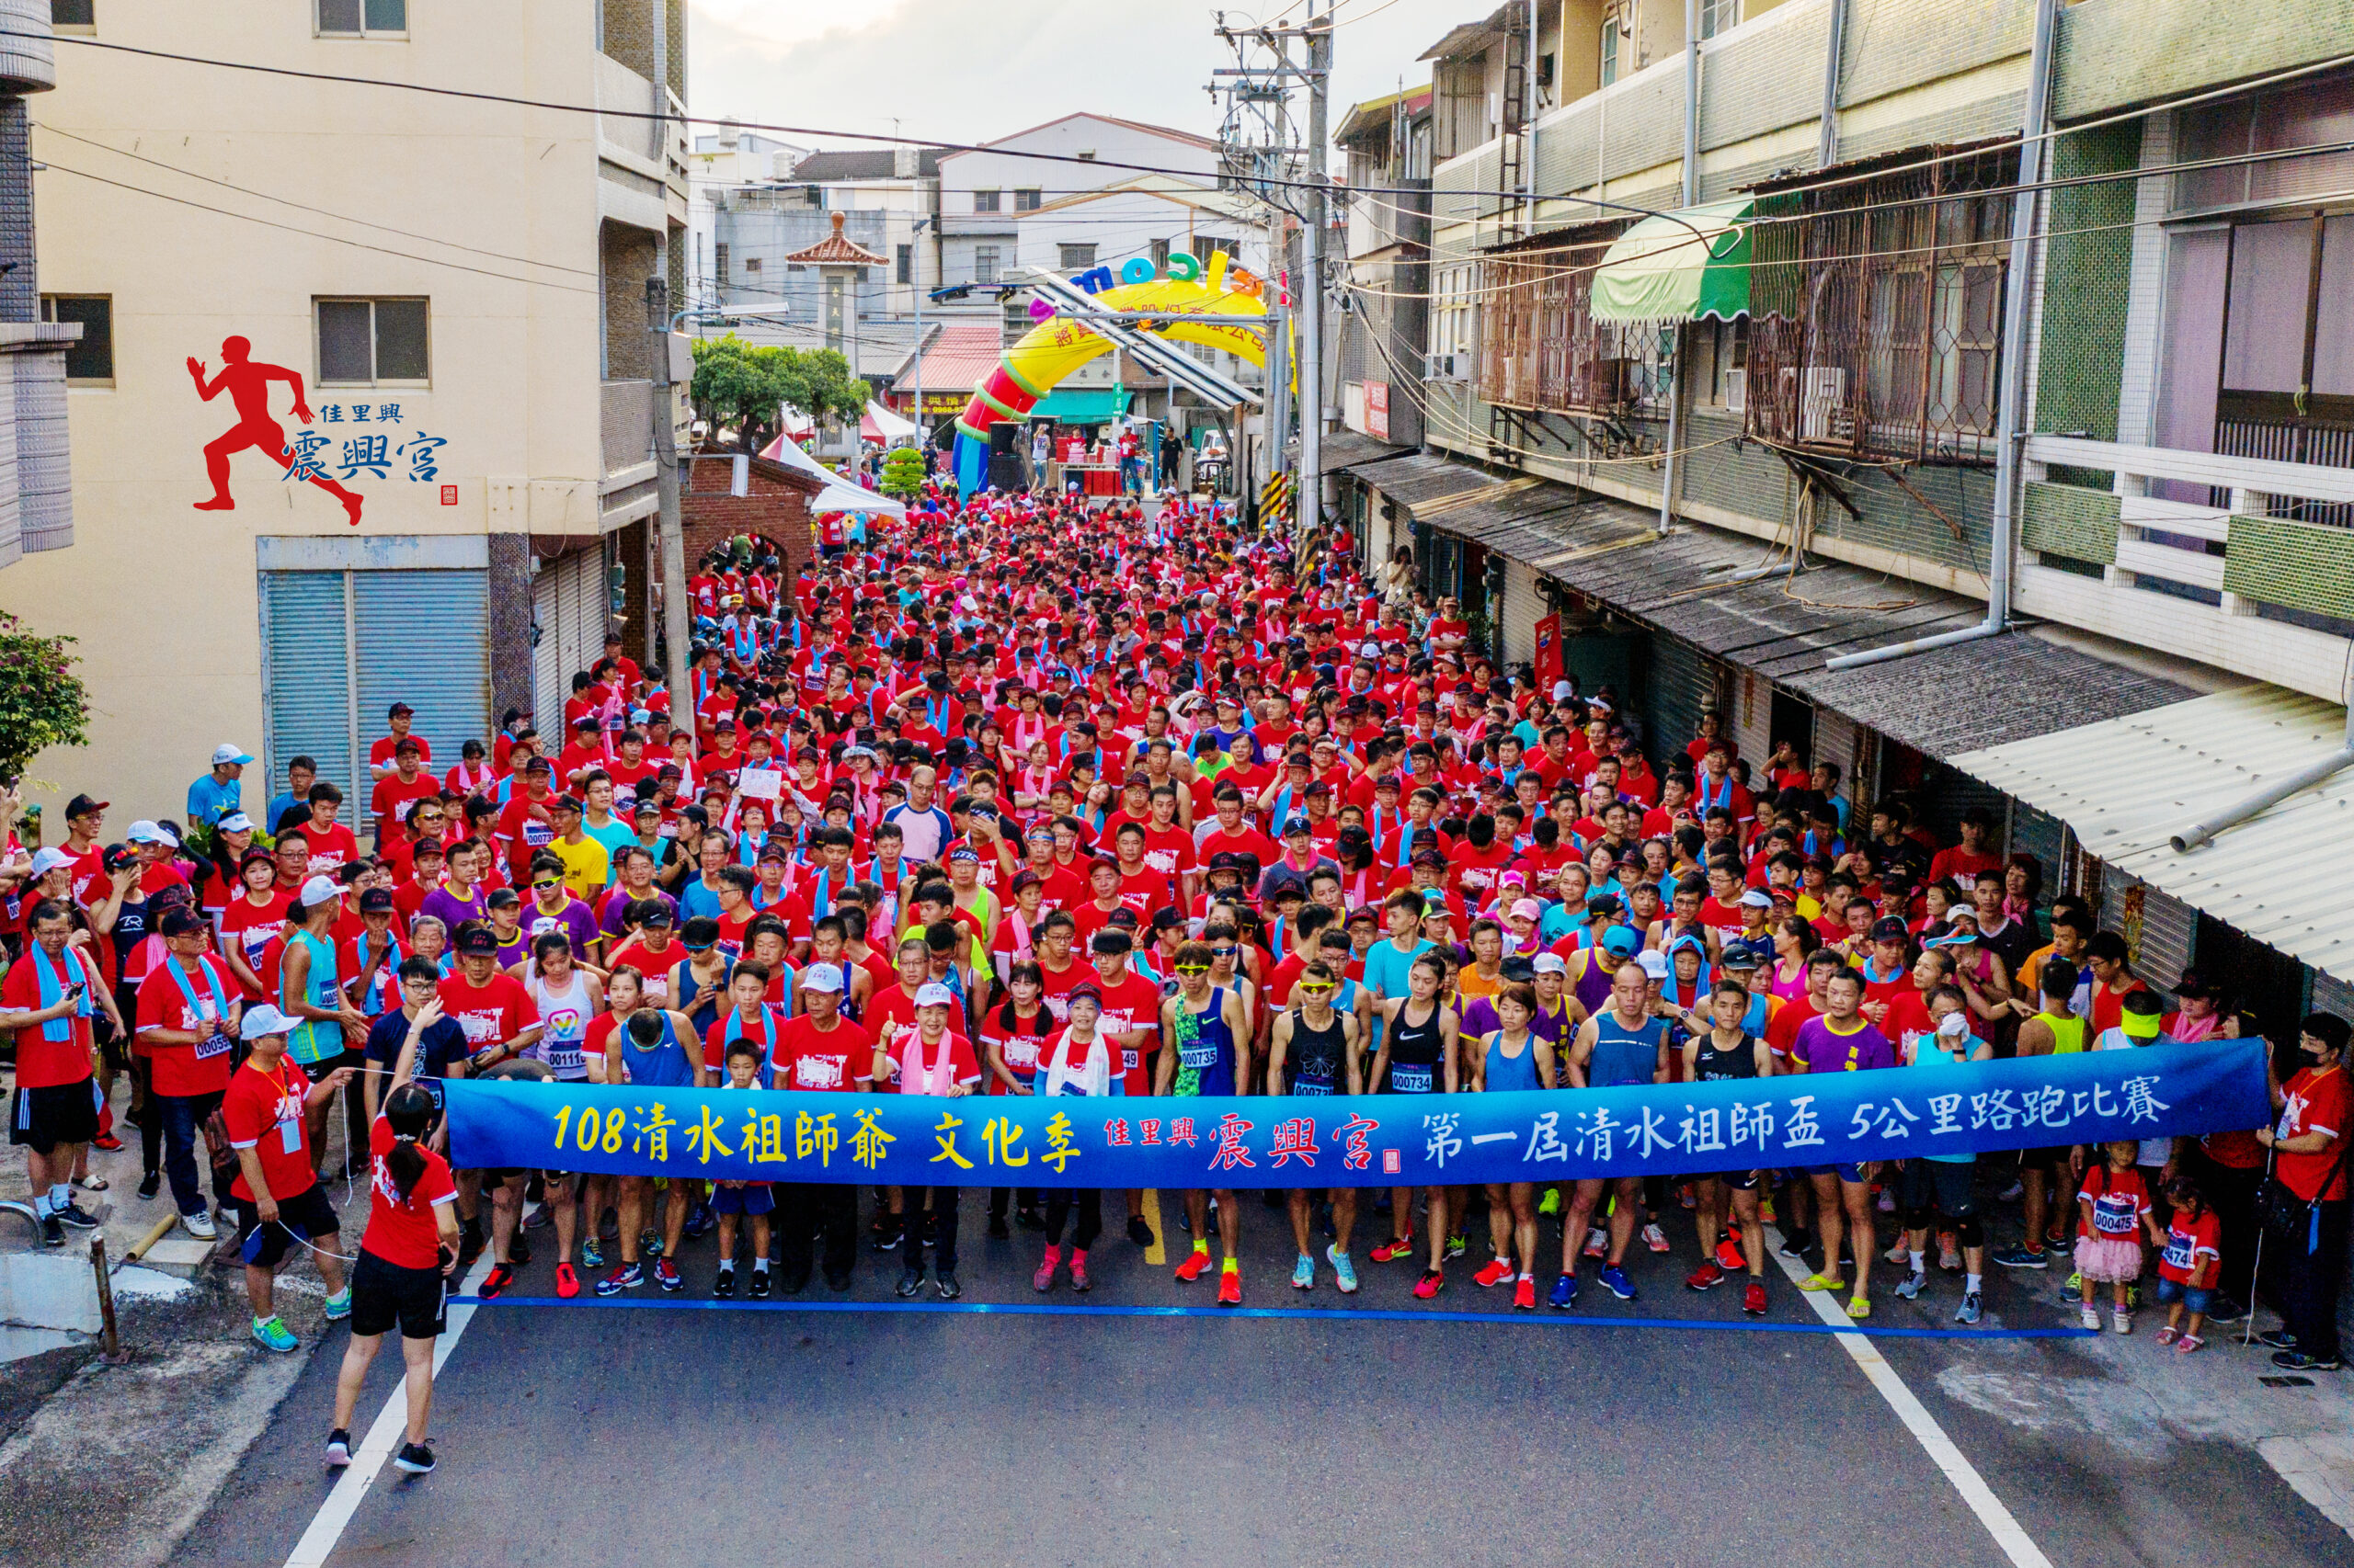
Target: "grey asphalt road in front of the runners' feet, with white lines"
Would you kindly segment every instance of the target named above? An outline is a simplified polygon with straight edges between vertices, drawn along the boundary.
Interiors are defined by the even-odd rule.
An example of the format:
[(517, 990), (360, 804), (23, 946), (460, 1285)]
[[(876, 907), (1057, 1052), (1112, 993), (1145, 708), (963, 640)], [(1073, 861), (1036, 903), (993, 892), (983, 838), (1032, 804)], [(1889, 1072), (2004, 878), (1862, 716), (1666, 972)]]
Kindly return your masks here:
[[(862, 1309), (814, 1309), (843, 1300), (822, 1288), (699, 1307), (709, 1238), (687, 1245), (680, 1295), (539, 1304), (534, 1262), (443, 1370), (440, 1469), (386, 1467), (327, 1561), (2015, 1561), (1780, 1271), (1766, 1321), (1730, 1288), (1683, 1290), (1693, 1243), (1674, 1220), (1676, 1253), (1638, 1248), (1634, 1302), (1589, 1281), (1570, 1318), (1427, 1321), (1509, 1304), (1459, 1262), (1424, 1309), (1412, 1271), (1363, 1262), (1363, 1224), (1365, 1290), (1344, 1302), (1323, 1271), (1302, 1297), (1281, 1212), (1250, 1196), (1245, 1311), (1314, 1316), (1217, 1314), (1208, 1278), (1177, 1285), (1116, 1236), (1092, 1295), (1038, 1297), (1036, 1238), (982, 1238), (982, 1203), (965, 1194), (967, 1304), (1203, 1311), (906, 1311), (897, 1257), (871, 1255), (847, 1297)], [(1930, 1297), (1883, 1293), (1874, 1328), (1949, 1328), (1954, 1285)], [(2067, 1326), (2017, 1278), (1994, 1281), (1991, 1304), (1989, 1328)], [(2076, 1340), (1871, 1349), (2050, 1563), (2354, 1563), (2255, 1453), (2137, 1427)], [(320, 1446), (339, 1344), (325, 1351), (177, 1563), (287, 1559), (334, 1486)], [(355, 1431), (393, 1375), (388, 1347)]]

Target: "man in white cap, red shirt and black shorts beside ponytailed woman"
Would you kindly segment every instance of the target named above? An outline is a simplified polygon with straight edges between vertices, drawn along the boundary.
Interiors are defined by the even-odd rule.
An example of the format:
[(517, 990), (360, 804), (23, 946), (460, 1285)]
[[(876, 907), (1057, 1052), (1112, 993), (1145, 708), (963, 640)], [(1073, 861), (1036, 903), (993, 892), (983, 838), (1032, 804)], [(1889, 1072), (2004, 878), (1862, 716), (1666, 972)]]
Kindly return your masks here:
[(337, 1067), (311, 1083), (301, 1067), (287, 1062), (290, 1019), (268, 1003), (245, 1010), (238, 1034), (247, 1043), (245, 1067), (228, 1078), (221, 1095), (221, 1125), (228, 1147), (238, 1151), (238, 1180), (228, 1196), (238, 1208), (238, 1248), (245, 1255), (245, 1300), (254, 1309), (254, 1342), (271, 1351), (292, 1351), (294, 1330), (273, 1304), (278, 1267), (294, 1248), (318, 1260), (327, 1281), (327, 1321), (351, 1316), (351, 1290), (344, 1288), (341, 1224), (334, 1205), (318, 1187), (311, 1163), (311, 1111), (327, 1104), (351, 1083), (353, 1069)]

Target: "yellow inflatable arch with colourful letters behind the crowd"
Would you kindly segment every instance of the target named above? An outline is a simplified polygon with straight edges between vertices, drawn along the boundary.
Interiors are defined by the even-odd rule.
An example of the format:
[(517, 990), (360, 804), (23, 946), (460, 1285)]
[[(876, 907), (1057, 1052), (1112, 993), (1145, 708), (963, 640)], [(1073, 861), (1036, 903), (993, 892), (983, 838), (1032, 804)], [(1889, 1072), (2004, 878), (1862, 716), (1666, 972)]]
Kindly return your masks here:
[[(1226, 252), (1212, 252), (1208, 261), (1182, 250), (1170, 252), (1168, 266), (1156, 268), (1144, 257), (1132, 257), (1113, 278), (1109, 266), (1071, 278), (1111, 311), (1168, 311), (1168, 323), (1130, 323), (1135, 332), (1205, 344), (1224, 348), (1252, 365), (1266, 363), (1266, 339), (1257, 327), (1219, 323), (1219, 315), (1262, 315), (1266, 311), (1266, 283), (1255, 273), (1231, 266)], [(998, 358), (972, 403), (956, 419), (956, 487), (970, 497), (986, 485), (989, 476), (989, 426), (1029, 417), (1055, 384), (1088, 360), (1109, 353), (1111, 339), (1088, 330), (1083, 318), (1057, 315), (1045, 299), (1031, 301), (1038, 320), (1022, 341)]]

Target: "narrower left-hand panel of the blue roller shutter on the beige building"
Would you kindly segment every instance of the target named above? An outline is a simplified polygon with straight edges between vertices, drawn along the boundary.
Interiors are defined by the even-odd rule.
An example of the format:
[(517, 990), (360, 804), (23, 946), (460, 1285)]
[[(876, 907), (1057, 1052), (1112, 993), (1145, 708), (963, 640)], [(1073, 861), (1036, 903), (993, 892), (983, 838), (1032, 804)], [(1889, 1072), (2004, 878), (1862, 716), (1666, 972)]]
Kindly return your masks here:
[(367, 789), (353, 775), (351, 586), (344, 572), (261, 574), (261, 711), (268, 779), (285, 779), (287, 760), (308, 756), (318, 777), (344, 791), (346, 822), (367, 808)]

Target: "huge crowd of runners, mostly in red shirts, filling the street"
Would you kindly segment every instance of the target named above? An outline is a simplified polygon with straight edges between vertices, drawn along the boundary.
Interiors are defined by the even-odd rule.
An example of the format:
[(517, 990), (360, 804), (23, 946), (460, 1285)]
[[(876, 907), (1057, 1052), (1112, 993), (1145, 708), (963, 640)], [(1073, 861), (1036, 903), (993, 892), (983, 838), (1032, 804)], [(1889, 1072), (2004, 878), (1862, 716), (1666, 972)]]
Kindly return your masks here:
[[(167, 1184), (193, 1236), (233, 1220), (261, 1344), (294, 1347), (273, 1276), (315, 1260), (355, 1335), (341, 1429), (384, 1333), (431, 1363), (445, 1276), (485, 1250), (483, 1297), (534, 1253), (558, 1297), (680, 1290), (690, 1245), (723, 1297), (847, 1290), (862, 1255), (902, 1297), (956, 1297), (967, 1198), (991, 1238), (1033, 1238), (1040, 1293), (1092, 1285), (1109, 1201), (1123, 1241), (1165, 1243), (1226, 1304), (1245, 1224), (1288, 1227), (1302, 1293), (1356, 1293), (1363, 1260), (1419, 1300), (1469, 1281), (1518, 1309), (1631, 1300), (1641, 1245), (1763, 1314), (1777, 1245), (1853, 1318), (1881, 1281), (1980, 1323), (1991, 1260), (2128, 1333), (2149, 1283), (2187, 1354), (2255, 1300), (2269, 1168), (2319, 1203), (2316, 1248), (2265, 1260), (2274, 1344), (2335, 1368), (2328, 1015), (2281, 1043), (2257, 1130), (1264, 1208), (1191, 1191), (1161, 1238), (1137, 1191), (452, 1172), (438, 1107), (461, 1076), (1577, 1092), (2257, 1031), (2201, 975), (2154, 977), (2161, 1001), (1987, 817), (1940, 843), (1789, 744), (1737, 756), (1716, 716), (1643, 735), (1608, 690), (1497, 669), (1455, 600), (1339, 530), (1295, 558), (1208, 501), (935, 494), (829, 530), (791, 579), (763, 551), (699, 563), (671, 680), (612, 638), (560, 713), (508, 713), (454, 758), (395, 704), (365, 777), (292, 758), (247, 791), (224, 744), (184, 822), (111, 836), (85, 793), (47, 848), (9, 836), (0, 1029), (47, 1241), (92, 1224), (87, 1147), (139, 1137), (141, 1196)], [(355, 1243), (325, 1196), (339, 1151), (372, 1177)], [(431, 1464), (421, 1413), (412, 1439)]]

